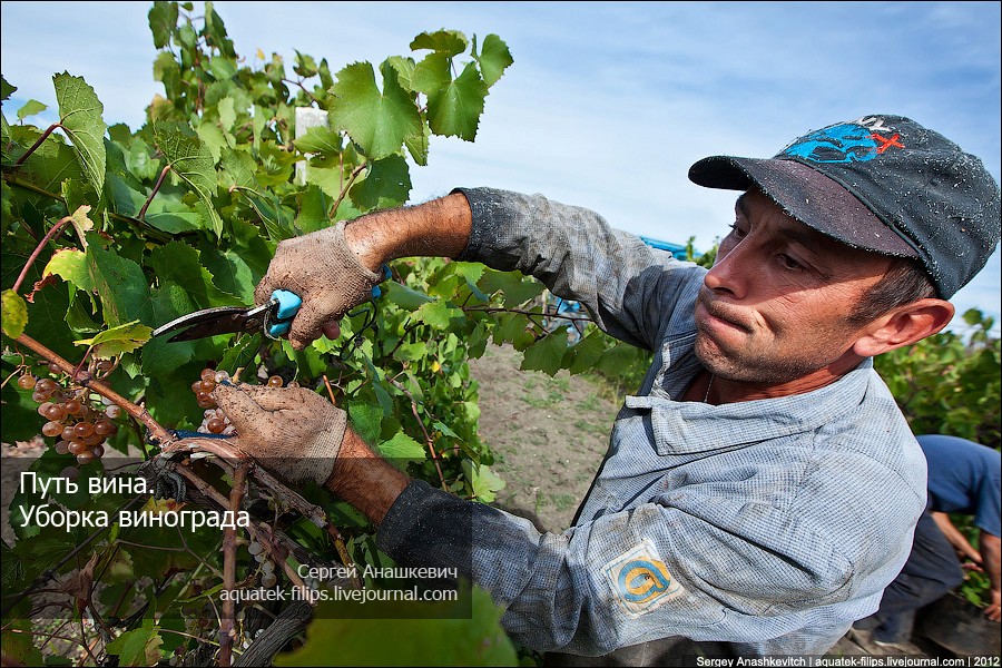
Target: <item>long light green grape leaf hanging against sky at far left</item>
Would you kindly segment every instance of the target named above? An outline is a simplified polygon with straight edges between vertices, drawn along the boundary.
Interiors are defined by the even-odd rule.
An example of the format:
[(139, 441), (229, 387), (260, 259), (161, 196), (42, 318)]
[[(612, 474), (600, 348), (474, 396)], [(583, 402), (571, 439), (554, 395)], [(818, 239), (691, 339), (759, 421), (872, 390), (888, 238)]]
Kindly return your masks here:
[(105, 130), (108, 126), (101, 118), (105, 107), (94, 88), (80, 77), (62, 72), (52, 77), (52, 81), (59, 102), (59, 124), (69, 136), (95, 193), (101, 193), (107, 163)]

